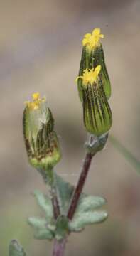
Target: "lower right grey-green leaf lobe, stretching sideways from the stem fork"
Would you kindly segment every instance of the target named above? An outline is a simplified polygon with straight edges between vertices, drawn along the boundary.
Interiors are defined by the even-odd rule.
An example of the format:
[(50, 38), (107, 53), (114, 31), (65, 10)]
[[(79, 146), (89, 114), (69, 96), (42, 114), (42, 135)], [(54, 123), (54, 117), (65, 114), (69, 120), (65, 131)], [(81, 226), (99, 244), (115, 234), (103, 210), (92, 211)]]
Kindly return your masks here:
[(69, 228), (71, 231), (80, 231), (86, 225), (102, 223), (107, 219), (107, 216), (105, 211), (80, 213), (70, 221)]

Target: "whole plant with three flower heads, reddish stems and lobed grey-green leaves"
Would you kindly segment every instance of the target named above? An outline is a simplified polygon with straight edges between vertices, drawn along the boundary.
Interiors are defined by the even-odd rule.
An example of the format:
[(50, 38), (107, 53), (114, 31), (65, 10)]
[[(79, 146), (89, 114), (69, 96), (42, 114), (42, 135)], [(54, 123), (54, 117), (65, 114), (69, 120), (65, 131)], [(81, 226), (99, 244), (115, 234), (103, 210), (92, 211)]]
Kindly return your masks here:
[[(106, 200), (82, 191), (93, 156), (104, 148), (112, 127), (109, 106), (111, 85), (101, 43), (103, 38), (100, 29), (95, 28), (82, 40), (80, 70), (75, 82), (88, 139), (85, 142), (85, 161), (75, 187), (54, 170), (62, 153), (55, 132), (55, 120), (45, 97), (36, 92), (31, 101), (25, 102), (23, 137), (28, 161), (41, 174), (50, 192), (50, 196), (41, 191), (34, 192), (45, 218), (31, 217), (28, 223), (33, 227), (35, 238), (54, 241), (53, 256), (64, 255), (70, 233), (80, 232), (86, 225), (102, 223), (107, 219), (107, 212), (99, 210)], [(26, 252), (16, 240), (12, 240), (9, 255), (23, 256)]]

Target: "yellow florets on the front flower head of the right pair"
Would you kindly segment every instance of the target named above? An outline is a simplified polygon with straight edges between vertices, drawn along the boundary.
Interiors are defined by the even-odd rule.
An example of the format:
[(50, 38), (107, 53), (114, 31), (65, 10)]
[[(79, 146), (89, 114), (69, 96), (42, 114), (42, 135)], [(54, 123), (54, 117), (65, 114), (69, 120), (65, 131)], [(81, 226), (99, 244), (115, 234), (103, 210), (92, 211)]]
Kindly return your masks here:
[(83, 75), (80, 75), (76, 78), (76, 82), (79, 78), (82, 78), (82, 82), (83, 82), (83, 85), (93, 85), (94, 82), (97, 82), (98, 78), (99, 78), (99, 72), (101, 70), (101, 65), (97, 65), (97, 67), (95, 68), (92, 68), (92, 69), (87, 69), (84, 70), (83, 72)]

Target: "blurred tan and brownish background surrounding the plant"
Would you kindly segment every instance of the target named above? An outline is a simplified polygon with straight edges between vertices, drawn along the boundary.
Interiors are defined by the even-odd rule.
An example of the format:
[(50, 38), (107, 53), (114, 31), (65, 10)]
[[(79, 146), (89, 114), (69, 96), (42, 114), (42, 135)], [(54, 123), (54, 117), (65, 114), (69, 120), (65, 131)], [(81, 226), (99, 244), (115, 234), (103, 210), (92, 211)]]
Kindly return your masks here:
[[(101, 28), (112, 81), (112, 134), (140, 160), (140, 1), (0, 1), (0, 255), (17, 238), (28, 255), (50, 255), (52, 243), (33, 240), (26, 223), (40, 215), (32, 192), (45, 191), (28, 164), (23, 144), (23, 102), (46, 95), (60, 135), (57, 171), (72, 183), (85, 155), (82, 107), (77, 95), (81, 39)], [(92, 162), (85, 191), (107, 198), (109, 219), (68, 240), (66, 256), (140, 255), (140, 176), (108, 142)], [(18, 217), (17, 217), (18, 216)]]

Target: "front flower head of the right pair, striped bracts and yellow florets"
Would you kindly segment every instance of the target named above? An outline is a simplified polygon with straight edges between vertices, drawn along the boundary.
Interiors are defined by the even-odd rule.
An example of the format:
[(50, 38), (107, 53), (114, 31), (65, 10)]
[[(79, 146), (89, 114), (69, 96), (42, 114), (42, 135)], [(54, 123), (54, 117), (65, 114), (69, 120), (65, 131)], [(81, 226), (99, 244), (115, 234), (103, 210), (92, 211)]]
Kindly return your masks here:
[(86, 69), (76, 79), (77, 83), (80, 80), (81, 85), (85, 127), (87, 132), (96, 136), (106, 133), (112, 126), (112, 112), (99, 75), (101, 70), (101, 65), (95, 70)]

